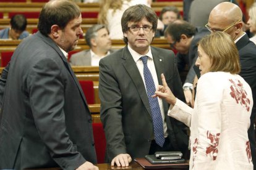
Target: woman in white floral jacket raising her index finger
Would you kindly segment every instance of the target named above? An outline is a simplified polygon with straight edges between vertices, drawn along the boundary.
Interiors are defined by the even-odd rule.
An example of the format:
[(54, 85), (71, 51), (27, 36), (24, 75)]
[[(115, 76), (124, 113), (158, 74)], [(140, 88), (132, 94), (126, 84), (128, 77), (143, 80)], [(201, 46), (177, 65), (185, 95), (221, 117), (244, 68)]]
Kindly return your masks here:
[(198, 42), (194, 109), (177, 99), (162, 75), (156, 96), (171, 104), (168, 116), (190, 127), (190, 169), (250, 169), (252, 156), (247, 130), (252, 90), (238, 75), (239, 54), (233, 39), (216, 31)]

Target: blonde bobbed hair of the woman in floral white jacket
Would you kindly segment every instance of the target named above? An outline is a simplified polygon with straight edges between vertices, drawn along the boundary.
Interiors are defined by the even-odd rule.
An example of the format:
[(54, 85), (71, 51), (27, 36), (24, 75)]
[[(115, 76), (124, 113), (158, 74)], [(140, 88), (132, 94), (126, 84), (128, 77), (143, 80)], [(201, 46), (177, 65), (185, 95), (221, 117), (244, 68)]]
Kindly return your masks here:
[(241, 71), (236, 44), (229, 34), (216, 31), (204, 36), (199, 42), (212, 62), (210, 71), (237, 74)]

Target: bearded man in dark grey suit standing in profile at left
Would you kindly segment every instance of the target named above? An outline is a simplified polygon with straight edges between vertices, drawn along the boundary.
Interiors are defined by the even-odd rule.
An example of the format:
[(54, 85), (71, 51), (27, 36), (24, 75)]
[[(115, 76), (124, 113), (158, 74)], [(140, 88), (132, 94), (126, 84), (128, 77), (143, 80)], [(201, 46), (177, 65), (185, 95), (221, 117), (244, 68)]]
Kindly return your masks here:
[(41, 10), (38, 33), (12, 55), (4, 72), (0, 169), (98, 169), (92, 164), (92, 116), (66, 59), (83, 33), (81, 23), (74, 2), (49, 1)]

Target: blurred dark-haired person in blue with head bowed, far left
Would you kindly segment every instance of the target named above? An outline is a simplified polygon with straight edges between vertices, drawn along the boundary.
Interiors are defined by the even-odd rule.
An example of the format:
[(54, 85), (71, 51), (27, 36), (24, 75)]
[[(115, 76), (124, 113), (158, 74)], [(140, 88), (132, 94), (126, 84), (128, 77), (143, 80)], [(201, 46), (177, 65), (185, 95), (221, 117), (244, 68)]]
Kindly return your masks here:
[(24, 39), (29, 33), (27, 28), (27, 18), (24, 15), (14, 15), (10, 21), (10, 28), (0, 30), (1, 39)]

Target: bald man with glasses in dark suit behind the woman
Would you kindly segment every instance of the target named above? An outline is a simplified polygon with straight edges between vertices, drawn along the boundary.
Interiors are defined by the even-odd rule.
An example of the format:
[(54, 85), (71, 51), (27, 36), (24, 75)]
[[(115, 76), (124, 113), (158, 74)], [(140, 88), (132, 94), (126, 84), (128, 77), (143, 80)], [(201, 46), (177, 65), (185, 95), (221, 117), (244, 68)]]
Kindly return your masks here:
[[(222, 2), (211, 10), (207, 25), (210, 31), (224, 31), (234, 39), (239, 51), (241, 62), (240, 75), (250, 85), (254, 106), (250, 116), (250, 128), (248, 137), (252, 154), (252, 162), (256, 169), (255, 130), (254, 120), (256, 116), (256, 46), (250, 41), (247, 34), (242, 31), (242, 11), (231, 2)], [(210, 91), (211, 89), (209, 89)]]

